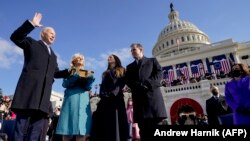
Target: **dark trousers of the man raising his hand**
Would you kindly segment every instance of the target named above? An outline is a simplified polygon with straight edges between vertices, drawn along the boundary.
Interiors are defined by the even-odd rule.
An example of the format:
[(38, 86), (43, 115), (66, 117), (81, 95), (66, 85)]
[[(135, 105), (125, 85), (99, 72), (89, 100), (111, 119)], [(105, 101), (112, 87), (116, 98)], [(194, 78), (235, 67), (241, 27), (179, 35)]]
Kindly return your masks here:
[(40, 141), (44, 138), (44, 116), (26, 116), (17, 114), (13, 141)]

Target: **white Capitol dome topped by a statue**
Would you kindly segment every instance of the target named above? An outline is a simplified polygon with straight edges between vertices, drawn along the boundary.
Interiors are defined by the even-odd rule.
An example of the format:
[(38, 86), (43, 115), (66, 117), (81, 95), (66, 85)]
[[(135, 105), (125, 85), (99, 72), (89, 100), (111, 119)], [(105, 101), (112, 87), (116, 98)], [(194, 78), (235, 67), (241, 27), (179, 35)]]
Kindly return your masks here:
[(195, 50), (202, 45), (210, 44), (209, 37), (188, 21), (179, 18), (179, 12), (173, 9), (168, 15), (169, 24), (160, 32), (153, 55), (164, 57), (178, 51)]

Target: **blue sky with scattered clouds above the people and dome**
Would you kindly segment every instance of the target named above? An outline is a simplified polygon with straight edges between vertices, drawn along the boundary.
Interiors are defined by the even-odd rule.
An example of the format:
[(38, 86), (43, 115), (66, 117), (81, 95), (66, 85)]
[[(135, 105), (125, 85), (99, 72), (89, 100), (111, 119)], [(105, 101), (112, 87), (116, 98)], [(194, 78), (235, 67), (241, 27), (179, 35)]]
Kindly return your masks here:
[[(180, 19), (190, 21), (205, 32), (210, 42), (232, 38), (250, 40), (250, 1), (248, 0), (1, 0), (0, 1), (0, 88), (4, 95), (14, 93), (22, 65), (22, 50), (9, 39), (24, 20), (41, 12), (44, 26), (55, 28), (52, 48), (60, 69), (68, 68), (74, 53), (85, 56), (86, 69), (95, 71), (95, 84), (107, 67), (107, 56), (114, 53), (123, 66), (133, 61), (129, 45), (140, 42), (145, 55), (160, 31), (169, 23), (170, 2)], [(39, 39), (40, 29), (29, 36)], [(53, 90), (63, 93), (62, 80), (56, 79)], [(93, 91), (95, 89), (93, 88)]]

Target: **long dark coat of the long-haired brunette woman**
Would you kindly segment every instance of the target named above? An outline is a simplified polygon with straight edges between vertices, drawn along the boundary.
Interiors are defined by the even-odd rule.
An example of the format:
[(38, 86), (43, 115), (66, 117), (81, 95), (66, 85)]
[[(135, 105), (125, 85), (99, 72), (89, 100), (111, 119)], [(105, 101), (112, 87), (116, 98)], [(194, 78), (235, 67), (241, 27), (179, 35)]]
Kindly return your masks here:
[(124, 77), (107, 71), (100, 86), (101, 100), (93, 115), (91, 141), (127, 141), (128, 120), (124, 102)]

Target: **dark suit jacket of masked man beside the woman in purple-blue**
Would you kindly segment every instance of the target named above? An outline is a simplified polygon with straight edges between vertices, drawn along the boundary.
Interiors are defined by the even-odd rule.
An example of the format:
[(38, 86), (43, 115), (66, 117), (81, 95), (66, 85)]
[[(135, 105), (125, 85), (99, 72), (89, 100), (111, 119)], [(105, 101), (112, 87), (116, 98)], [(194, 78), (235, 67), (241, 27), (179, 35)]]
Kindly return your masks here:
[(214, 96), (206, 100), (206, 111), (209, 125), (219, 125), (218, 116), (232, 112), (232, 109), (229, 106), (227, 109), (224, 109), (222, 106), (223, 104), (226, 104), (226, 101), (225, 97), (222, 95), (219, 96), (218, 100), (216, 100)]

